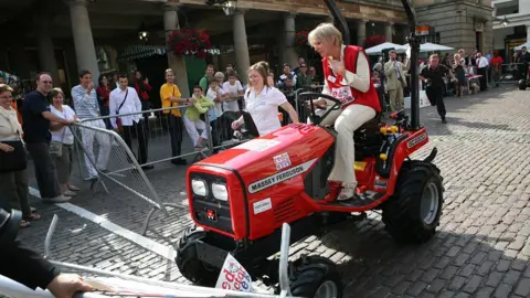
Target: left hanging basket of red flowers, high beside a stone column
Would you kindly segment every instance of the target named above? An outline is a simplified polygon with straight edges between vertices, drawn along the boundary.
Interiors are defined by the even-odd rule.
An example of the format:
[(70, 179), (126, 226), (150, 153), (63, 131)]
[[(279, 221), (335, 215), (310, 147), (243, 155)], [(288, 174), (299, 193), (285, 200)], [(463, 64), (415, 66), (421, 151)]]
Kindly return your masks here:
[(208, 50), (212, 49), (210, 35), (206, 30), (195, 30), (183, 28), (174, 30), (168, 38), (169, 50), (173, 51), (176, 56), (198, 56), (205, 57)]

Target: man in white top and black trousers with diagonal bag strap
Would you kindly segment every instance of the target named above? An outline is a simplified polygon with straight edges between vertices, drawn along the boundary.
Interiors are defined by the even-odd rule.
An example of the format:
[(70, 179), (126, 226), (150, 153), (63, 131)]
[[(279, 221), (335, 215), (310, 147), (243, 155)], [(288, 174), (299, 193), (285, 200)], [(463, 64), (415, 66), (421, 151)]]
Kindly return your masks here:
[[(110, 93), (108, 107), (110, 109), (110, 124), (113, 125), (116, 131), (119, 131), (124, 136), (124, 140), (132, 151), (132, 130), (136, 130), (136, 136), (138, 137), (138, 163), (144, 164), (147, 162), (147, 125), (141, 116), (141, 102), (138, 97), (138, 93), (132, 87), (129, 87), (129, 81), (127, 75), (119, 75), (118, 77), (118, 88), (114, 89)], [(126, 114), (135, 114), (129, 116)], [(120, 126), (118, 126), (117, 120), (119, 119)], [(144, 170), (151, 170), (152, 164), (141, 167)]]

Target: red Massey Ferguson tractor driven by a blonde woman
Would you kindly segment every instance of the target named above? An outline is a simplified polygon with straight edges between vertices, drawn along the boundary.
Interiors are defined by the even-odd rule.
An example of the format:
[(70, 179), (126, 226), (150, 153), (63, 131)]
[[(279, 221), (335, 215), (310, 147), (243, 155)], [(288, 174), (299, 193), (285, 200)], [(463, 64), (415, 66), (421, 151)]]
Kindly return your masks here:
[[(409, 0), (403, 3), (414, 28), (414, 11)], [(420, 44), (414, 33), (409, 40), (411, 65), (416, 65)], [(411, 76), (416, 74), (412, 67)], [(321, 116), (310, 105), (312, 125), (290, 124), (192, 164), (187, 189), (195, 225), (177, 244), (181, 274), (195, 284), (214, 286), (230, 253), (254, 278), (276, 285), (277, 262), (272, 256), (279, 251), (283, 223), (290, 224), (294, 243), (336, 223), (362, 220), (372, 210), (382, 211), (385, 230), (395, 240), (431, 240), (439, 223), (444, 189), (439, 170), (432, 163), (436, 149), (424, 160), (411, 159), (428, 142), (426, 129), (418, 125), (414, 81), (411, 121), (400, 111), (388, 126), (378, 115), (354, 132), (356, 163), (351, 167), (362, 200), (338, 202), (338, 185), (328, 183), (337, 132), (319, 124), (341, 103), (327, 95), (305, 93), (298, 97), (325, 97), (335, 103)], [(335, 265), (318, 256), (292, 264), (290, 290), (300, 297), (342, 296)]]

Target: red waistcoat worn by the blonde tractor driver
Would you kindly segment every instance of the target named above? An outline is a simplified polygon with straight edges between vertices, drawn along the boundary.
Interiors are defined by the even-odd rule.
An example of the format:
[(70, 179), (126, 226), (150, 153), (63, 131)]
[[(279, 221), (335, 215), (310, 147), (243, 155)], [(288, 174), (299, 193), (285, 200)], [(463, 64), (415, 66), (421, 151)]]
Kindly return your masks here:
[[(359, 56), (359, 53), (364, 54), (364, 50), (356, 45), (346, 46), (343, 60), (344, 60), (344, 67), (347, 71), (357, 73), (357, 57)], [(342, 82), (342, 76), (340, 74), (337, 74), (335, 82), (329, 81), (329, 77), (330, 76), (335, 77), (335, 75), (329, 66), (328, 57), (322, 58), (322, 68), (324, 68), (324, 75), (326, 77), (326, 83), (328, 84), (329, 89), (331, 91), (332, 88), (340, 88), (342, 86), (340, 84)], [(370, 73), (370, 76), (371, 76), (371, 73)], [(350, 87), (350, 89), (351, 89), (351, 95), (353, 96), (353, 98), (356, 98), (356, 100), (343, 104), (342, 109), (346, 108), (347, 106), (356, 104), (356, 105), (369, 106), (373, 108), (377, 113), (381, 113), (379, 95), (371, 79), (370, 79), (370, 87), (365, 93), (362, 93), (352, 87)]]

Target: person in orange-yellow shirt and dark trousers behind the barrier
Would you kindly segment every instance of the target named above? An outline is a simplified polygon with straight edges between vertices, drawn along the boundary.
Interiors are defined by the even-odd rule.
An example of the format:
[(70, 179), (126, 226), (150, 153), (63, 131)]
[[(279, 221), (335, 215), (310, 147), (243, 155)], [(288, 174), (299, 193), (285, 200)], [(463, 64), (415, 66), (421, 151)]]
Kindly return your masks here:
[[(178, 107), (189, 104), (188, 98), (182, 98), (179, 87), (173, 83), (174, 73), (171, 68), (166, 70), (166, 84), (160, 87), (160, 99), (162, 108)], [(179, 157), (182, 150), (182, 115), (180, 108), (163, 110), (168, 115), (169, 135), (171, 140), (171, 156)], [(178, 166), (187, 164), (186, 159), (177, 158), (171, 163)]]

